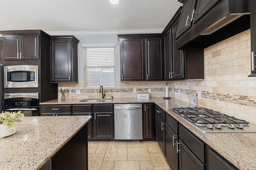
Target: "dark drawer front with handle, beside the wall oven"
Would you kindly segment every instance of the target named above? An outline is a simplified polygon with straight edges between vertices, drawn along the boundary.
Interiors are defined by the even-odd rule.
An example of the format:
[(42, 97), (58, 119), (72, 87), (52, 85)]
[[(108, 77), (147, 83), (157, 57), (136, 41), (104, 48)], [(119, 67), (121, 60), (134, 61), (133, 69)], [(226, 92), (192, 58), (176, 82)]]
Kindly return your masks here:
[(42, 106), (42, 113), (71, 113), (71, 105)]

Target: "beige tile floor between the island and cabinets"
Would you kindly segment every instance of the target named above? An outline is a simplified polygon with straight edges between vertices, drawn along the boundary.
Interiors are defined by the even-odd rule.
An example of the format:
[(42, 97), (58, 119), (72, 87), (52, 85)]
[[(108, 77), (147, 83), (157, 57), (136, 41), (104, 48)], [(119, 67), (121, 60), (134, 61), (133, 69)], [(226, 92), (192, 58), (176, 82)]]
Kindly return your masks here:
[(88, 142), (89, 170), (170, 170), (155, 141)]

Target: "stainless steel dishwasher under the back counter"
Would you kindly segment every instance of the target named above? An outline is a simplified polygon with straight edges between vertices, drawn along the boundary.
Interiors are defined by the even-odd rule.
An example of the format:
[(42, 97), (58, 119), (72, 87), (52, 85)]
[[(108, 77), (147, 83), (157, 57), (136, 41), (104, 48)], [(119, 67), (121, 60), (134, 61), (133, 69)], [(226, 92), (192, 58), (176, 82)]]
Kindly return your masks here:
[(142, 140), (142, 104), (114, 104), (115, 140)]

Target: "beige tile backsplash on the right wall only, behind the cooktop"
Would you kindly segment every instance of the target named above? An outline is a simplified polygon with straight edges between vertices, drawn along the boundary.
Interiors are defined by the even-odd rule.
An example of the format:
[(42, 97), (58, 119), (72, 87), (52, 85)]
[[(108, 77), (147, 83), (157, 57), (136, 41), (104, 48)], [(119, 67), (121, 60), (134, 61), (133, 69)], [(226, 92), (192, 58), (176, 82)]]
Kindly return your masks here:
[(204, 80), (173, 82), (175, 98), (190, 102), (200, 91), (199, 106), (256, 124), (256, 78), (248, 77), (250, 51), (250, 30), (206, 48)]

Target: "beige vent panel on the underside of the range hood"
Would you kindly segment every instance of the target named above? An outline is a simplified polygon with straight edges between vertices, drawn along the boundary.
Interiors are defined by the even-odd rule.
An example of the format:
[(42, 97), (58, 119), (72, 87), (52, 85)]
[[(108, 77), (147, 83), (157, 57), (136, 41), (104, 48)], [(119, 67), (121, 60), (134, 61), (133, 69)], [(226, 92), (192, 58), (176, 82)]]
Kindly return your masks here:
[(215, 31), (221, 29), (222, 27), (228, 25), (232, 21), (240, 18), (243, 15), (244, 15), (244, 13), (243, 14), (237, 14), (237, 15), (236, 14), (230, 14), (229, 16), (224, 17), (221, 20), (219, 20), (218, 22), (214, 23), (212, 26), (210, 26), (208, 29), (206, 29), (200, 35), (210, 35), (210, 34), (214, 33)]

